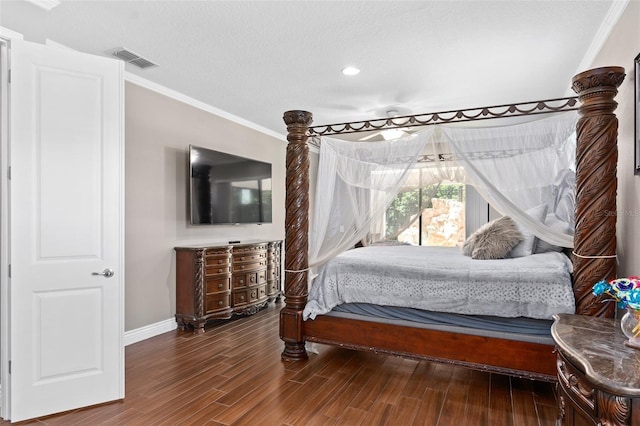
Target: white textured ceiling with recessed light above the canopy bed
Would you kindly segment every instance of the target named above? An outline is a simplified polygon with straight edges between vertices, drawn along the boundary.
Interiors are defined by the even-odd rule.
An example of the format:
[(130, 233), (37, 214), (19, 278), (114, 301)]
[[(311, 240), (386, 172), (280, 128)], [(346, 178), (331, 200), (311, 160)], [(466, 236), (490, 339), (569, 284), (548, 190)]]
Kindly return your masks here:
[[(289, 109), (327, 124), (572, 95), (624, 5), (62, 0), (46, 12), (2, 0), (0, 25), (39, 16), (42, 37), (73, 49), (124, 46), (160, 65), (130, 73), (282, 135)], [(346, 65), (362, 71), (345, 77)]]

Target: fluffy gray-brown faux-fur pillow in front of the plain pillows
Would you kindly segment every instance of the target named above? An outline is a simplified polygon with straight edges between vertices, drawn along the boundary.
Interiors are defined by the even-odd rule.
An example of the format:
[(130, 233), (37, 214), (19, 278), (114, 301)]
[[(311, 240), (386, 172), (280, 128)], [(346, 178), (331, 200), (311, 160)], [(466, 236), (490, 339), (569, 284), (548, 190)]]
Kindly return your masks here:
[(520, 240), (518, 225), (509, 216), (503, 216), (471, 234), (462, 245), (462, 253), (472, 259), (502, 259)]

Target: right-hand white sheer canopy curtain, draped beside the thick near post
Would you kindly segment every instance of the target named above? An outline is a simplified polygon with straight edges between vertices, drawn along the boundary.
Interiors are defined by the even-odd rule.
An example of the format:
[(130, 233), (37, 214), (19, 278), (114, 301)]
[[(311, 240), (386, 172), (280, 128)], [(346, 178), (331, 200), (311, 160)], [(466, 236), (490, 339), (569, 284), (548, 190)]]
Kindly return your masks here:
[[(573, 247), (575, 111), (510, 126), (442, 126), (469, 183), (495, 208), (536, 237)], [(536, 218), (527, 210), (546, 206)]]

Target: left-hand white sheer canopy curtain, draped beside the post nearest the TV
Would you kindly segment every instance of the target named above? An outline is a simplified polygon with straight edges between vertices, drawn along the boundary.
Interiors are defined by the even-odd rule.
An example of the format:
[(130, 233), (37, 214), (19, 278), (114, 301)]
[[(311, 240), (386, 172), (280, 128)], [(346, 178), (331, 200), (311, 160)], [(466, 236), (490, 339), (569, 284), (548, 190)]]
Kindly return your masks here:
[(309, 236), (310, 267), (353, 247), (382, 220), (433, 130), (381, 142), (322, 138)]

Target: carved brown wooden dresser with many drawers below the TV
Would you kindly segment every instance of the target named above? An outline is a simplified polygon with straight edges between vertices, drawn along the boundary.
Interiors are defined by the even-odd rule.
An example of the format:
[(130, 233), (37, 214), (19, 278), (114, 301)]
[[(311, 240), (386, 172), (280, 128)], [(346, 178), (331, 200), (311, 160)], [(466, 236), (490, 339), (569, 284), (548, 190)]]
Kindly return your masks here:
[(176, 321), (204, 332), (207, 321), (250, 315), (281, 297), (282, 241), (175, 247)]

